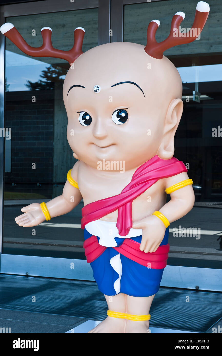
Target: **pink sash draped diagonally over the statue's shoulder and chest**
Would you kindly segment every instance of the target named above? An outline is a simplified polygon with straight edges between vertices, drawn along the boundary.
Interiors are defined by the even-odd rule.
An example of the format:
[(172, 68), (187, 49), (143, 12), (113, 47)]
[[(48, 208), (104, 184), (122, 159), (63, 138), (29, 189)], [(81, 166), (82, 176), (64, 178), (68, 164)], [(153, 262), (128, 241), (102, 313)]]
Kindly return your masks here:
[(132, 202), (159, 179), (187, 172), (183, 162), (175, 157), (161, 159), (157, 155), (136, 169), (131, 182), (118, 195), (94, 201), (82, 208), (81, 227), (118, 209), (117, 228), (120, 236), (126, 236), (133, 226)]

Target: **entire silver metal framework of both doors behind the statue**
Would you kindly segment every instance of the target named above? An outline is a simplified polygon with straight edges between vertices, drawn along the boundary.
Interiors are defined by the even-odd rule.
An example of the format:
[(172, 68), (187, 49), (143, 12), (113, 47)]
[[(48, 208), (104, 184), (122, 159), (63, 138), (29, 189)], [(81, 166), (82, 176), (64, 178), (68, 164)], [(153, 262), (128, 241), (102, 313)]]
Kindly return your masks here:
[[(162, 0), (152, 0), (162, 1)], [(166, 0), (169, 1), (169, 0)], [(0, 23), (5, 17), (33, 15), (45, 12), (69, 11), (98, 7), (98, 44), (123, 41), (123, 6), (143, 3), (141, 0), (60, 0), (25, 2), (0, 7)], [(41, 9), (41, 10), (40, 10)], [(112, 29), (113, 35), (109, 36)], [(0, 35), (0, 126), (4, 127), (4, 50), (5, 37)], [(86, 260), (68, 258), (1, 254), (3, 238), (4, 138), (0, 137), (0, 272), (29, 276), (82, 279), (94, 281), (93, 272)], [(74, 263), (74, 268), (69, 266)], [(222, 291), (222, 269), (167, 266), (161, 286)]]

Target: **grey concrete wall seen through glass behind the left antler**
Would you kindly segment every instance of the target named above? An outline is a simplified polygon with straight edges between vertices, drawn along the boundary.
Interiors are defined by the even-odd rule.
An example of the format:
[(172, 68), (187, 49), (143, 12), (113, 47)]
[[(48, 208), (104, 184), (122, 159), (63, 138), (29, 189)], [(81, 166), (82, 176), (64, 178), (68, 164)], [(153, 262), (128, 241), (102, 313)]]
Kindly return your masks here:
[[(52, 28), (52, 45), (55, 48), (68, 51), (73, 47), (74, 29), (76, 27), (85, 28), (83, 40), (83, 52), (98, 45), (98, 9), (73, 10), (63, 12), (51, 12), (50, 14), (37, 14), (7, 17), (7, 22), (13, 25), (20, 32), (25, 41), (33, 47), (42, 45), (41, 28)], [(36, 30), (36, 35), (32, 36), (32, 30)], [(23, 54), (14, 43), (6, 38), (6, 49), (11, 52)], [(26, 54), (23, 54), (26, 56)], [(32, 57), (33, 58), (33, 57)], [(49, 64), (68, 63), (57, 58), (38, 58)]]

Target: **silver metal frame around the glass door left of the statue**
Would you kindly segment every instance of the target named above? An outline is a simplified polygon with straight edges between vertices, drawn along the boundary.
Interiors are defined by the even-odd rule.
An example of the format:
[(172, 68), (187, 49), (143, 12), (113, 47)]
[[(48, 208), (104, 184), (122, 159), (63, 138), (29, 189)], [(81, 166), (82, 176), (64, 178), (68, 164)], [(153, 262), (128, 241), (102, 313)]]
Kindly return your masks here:
[[(47, 0), (16, 3), (0, 6), (0, 24), (6, 17), (44, 14), (59, 11), (72, 11), (98, 8), (98, 45), (110, 42), (110, 0)], [(5, 85), (5, 36), (0, 33), (0, 127), (4, 127), (4, 85)], [(9, 255), (2, 253), (3, 219), (4, 219), (4, 137), (0, 137), (0, 273), (21, 274), (32, 276), (62, 277), (92, 280), (90, 266), (84, 260), (65, 258)], [(58, 261), (59, 260), (59, 261)], [(73, 273), (67, 274), (67, 264), (74, 262)], [(59, 265), (59, 268), (57, 268)], [(37, 268), (35, 269), (35, 266)], [(62, 273), (64, 268), (64, 273)], [(70, 269), (70, 268), (69, 268)], [(86, 273), (84, 272), (86, 271)], [(55, 273), (54, 273), (55, 272)]]

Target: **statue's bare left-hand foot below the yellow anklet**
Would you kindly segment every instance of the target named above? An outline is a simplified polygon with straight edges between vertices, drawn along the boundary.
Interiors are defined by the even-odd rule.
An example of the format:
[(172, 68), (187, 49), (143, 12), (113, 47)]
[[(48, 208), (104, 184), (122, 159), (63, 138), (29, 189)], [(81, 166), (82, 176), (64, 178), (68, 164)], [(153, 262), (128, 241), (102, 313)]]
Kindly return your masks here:
[(126, 321), (125, 319), (112, 318), (107, 316), (102, 323), (99, 323), (89, 333), (125, 333)]

